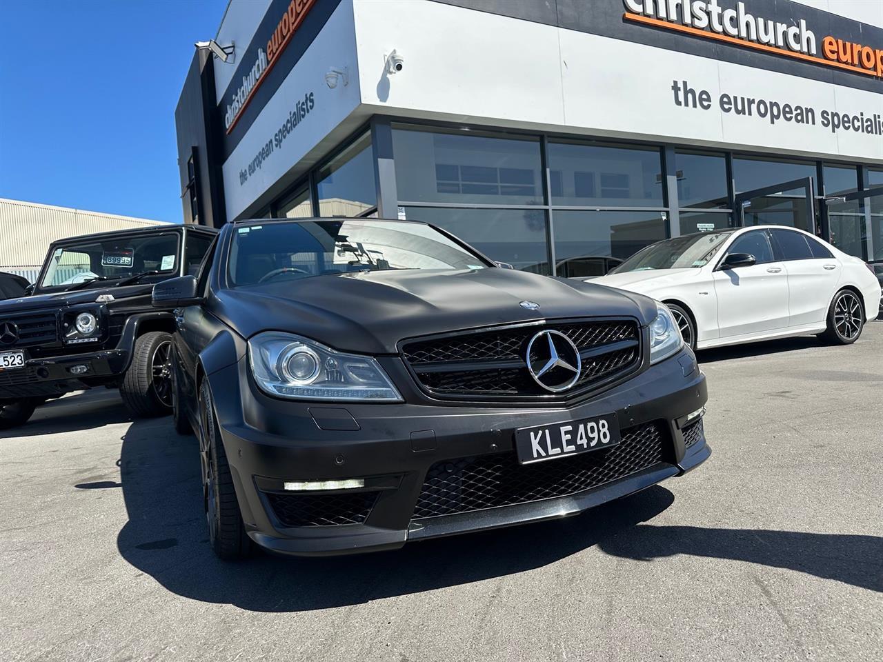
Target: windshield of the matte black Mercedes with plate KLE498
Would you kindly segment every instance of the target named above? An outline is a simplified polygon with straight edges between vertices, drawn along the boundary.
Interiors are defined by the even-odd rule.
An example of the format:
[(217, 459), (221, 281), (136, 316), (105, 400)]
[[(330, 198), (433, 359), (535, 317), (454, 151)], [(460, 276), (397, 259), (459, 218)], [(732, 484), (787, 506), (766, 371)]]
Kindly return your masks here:
[(254, 223), (237, 228), (230, 246), (230, 281), (236, 286), (368, 271), (487, 266), (437, 229), (415, 222)]

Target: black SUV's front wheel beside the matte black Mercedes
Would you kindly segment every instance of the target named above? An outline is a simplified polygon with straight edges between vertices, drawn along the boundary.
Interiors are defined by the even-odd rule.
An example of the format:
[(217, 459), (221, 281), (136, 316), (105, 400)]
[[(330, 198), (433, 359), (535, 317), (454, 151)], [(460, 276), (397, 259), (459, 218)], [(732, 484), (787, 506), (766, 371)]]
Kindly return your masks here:
[(132, 364), (119, 393), (134, 417), (165, 416), (171, 412), (171, 335), (150, 331), (135, 339)]

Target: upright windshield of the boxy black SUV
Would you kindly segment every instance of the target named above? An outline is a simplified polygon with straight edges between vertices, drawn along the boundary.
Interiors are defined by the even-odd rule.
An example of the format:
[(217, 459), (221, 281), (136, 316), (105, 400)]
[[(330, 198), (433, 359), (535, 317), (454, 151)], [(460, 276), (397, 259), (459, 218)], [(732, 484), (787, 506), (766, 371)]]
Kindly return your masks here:
[(168, 276), (177, 270), (177, 253), (177, 232), (84, 239), (52, 252), (40, 286), (79, 289), (150, 272)]

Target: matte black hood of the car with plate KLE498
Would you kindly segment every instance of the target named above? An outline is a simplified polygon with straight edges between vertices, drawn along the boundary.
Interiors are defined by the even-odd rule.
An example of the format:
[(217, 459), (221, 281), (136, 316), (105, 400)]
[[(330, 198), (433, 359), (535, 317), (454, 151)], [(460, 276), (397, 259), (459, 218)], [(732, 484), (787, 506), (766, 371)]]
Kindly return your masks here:
[(315, 276), (222, 290), (210, 306), (245, 337), (288, 331), (367, 354), (394, 354), (404, 338), (495, 324), (630, 316), (644, 325), (656, 314), (648, 297), (503, 268)]

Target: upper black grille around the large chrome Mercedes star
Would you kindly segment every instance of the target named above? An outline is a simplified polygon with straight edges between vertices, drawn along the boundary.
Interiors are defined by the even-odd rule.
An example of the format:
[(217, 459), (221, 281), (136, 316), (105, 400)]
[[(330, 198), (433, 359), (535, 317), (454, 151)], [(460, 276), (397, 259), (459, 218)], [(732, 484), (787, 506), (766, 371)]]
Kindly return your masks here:
[(578, 320), (482, 329), (440, 338), (405, 341), (404, 359), (419, 384), (433, 395), (506, 400), (555, 397), (528, 372), (531, 338), (543, 330), (566, 335), (579, 350), (582, 370), (562, 395), (579, 395), (638, 369), (640, 329), (635, 320)]

